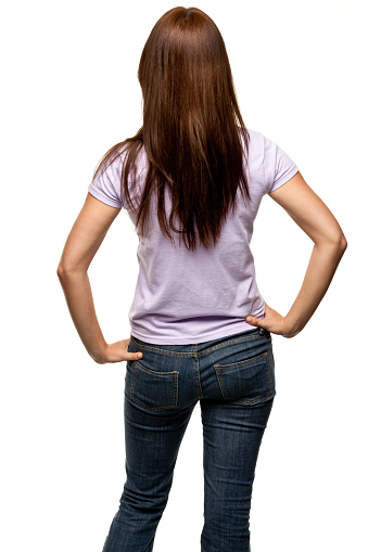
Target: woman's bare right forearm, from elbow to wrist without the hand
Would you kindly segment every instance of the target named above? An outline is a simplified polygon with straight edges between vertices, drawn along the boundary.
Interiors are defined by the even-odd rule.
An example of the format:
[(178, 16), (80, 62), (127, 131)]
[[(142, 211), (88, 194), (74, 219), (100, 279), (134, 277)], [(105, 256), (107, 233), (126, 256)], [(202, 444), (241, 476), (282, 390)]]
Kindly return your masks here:
[(306, 325), (323, 298), (339, 262), (344, 245), (314, 245), (304, 281), (285, 320), (296, 334)]

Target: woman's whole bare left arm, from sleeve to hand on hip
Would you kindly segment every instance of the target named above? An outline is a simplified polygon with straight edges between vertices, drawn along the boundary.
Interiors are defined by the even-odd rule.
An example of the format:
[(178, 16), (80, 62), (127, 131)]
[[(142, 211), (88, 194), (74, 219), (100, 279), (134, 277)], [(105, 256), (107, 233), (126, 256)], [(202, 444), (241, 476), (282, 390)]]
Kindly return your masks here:
[(79, 337), (90, 357), (99, 364), (136, 360), (141, 352), (128, 352), (130, 339), (107, 344), (97, 319), (88, 268), (102, 244), (109, 228), (120, 209), (87, 194), (76, 221), (67, 236), (58, 267), (67, 307)]

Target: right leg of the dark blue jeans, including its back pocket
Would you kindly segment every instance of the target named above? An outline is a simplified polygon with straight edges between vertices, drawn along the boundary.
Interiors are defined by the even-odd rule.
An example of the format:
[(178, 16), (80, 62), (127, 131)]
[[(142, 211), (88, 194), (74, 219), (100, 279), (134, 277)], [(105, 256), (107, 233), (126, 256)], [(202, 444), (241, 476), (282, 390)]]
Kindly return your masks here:
[[(203, 422), (203, 550), (249, 550), (249, 517), (256, 462), (275, 388), (269, 334), (211, 351), (220, 399), (201, 399)], [(217, 391), (218, 395), (218, 391)]]

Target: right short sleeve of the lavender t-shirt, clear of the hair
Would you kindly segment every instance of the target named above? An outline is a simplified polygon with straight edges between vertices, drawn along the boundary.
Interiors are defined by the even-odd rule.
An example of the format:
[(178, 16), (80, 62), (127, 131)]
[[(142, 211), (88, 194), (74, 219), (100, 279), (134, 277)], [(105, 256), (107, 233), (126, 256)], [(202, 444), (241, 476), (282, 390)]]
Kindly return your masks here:
[(299, 168), (276, 142), (264, 137), (264, 143), (265, 193), (270, 193), (296, 175)]

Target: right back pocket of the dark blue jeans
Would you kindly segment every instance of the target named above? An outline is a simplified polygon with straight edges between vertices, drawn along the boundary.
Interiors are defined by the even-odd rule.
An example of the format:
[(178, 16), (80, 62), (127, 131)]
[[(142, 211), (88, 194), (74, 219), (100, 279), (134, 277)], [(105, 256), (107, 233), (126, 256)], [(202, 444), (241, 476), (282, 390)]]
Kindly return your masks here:
[(274, 393), (269, 352), (231, 364), (215, 364), (225, 400), (255, 405)]

